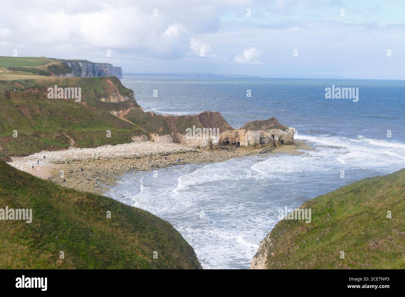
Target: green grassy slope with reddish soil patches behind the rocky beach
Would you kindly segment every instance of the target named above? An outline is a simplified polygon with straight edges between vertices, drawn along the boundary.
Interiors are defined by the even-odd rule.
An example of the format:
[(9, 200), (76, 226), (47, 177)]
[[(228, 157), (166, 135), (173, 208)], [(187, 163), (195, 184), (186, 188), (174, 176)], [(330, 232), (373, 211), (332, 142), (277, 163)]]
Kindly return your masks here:
[[(0, 81), (0, 84), (2, 82)], [(110, 112), (139, 108), (132, 91), (116, 77), (41, 77), (7, 80), (16, 92), (0, 92), (0, 157), (24, 155), (41, 150), (69, 147), (96, 147), (131, 142), (144, 134), (139, 126)], [(75, 99), (48, 99), (47, 88), (80, 87), (81, 102)], [(24, 90), (35, 91), (25, 92)], [(103, 102), (102, 98), (122, 96), (125, 101)], [(128, 98), (128, 99), (127, 99)], [(18, 137), (13, 137), (13, 131)], [(107, 130), (111, 137), (107, 137)]]

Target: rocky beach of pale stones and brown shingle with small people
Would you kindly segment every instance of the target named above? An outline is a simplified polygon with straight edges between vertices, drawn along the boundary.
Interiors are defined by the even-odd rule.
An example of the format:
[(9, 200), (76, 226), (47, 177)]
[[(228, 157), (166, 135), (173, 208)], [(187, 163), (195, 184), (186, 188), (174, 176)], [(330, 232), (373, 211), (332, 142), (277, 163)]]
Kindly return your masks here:
[[(209, 152), (183, 147), (177, 143), (163, 144), (145, 141), (114, 146), (104, 145), (96, 148), (70, 147), (68, 150), (62, 151), (43, 151), (25, 157), (12, 157), (9, 164), (59, 185), (102, 194), (122, 175), (130, 172), (182, 164), (222, 162), (230, 158), (261, 153), (297, 155), (303, 154), (305, 150), (313, 150), (313, 148), (304, 141), (295, 141), (295, 145), (281, 145), (276, 148), (225, 146)], [(180, 162), (178, 162), (179, 159)], [(63, 176), (61, 172), (63, 172)]]

